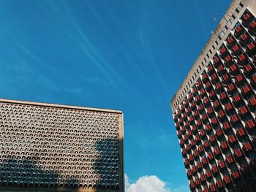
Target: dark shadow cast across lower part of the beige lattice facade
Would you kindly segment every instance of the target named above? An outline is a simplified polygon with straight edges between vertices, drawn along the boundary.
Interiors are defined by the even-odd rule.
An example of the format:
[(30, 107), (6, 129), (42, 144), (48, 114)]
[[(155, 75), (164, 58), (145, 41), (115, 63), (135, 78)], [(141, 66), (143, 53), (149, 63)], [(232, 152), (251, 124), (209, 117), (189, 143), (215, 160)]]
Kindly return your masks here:
[[(60, 174), (61, 166), (39, 166), (41, 162), (30, 156), (22, 158), (11, 155), (8, 158), (0, 156), (0, 191), (121, 191), (123, 192), (123, 170), (117, 149), (122, 145), (118, 139), (101, 139), (95, 142), (98, 158), (91, 161), (93, 170), (88, 175)], [(120, 153), (118, 154), (117, 153)], [(1, 158), (4, 159), (1, 161)], [(87, 161), (87, 159), (86, 159)], [(78, 172), (81, 167), (79, 166)]]

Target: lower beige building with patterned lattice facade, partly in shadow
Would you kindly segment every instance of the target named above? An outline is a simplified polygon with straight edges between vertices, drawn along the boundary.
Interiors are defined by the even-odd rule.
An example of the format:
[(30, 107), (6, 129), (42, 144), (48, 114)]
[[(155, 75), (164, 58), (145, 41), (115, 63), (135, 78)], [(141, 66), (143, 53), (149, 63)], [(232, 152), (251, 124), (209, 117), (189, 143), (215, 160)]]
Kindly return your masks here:
[(124, 191), (118, 110), (0, 99), (0, 191)]

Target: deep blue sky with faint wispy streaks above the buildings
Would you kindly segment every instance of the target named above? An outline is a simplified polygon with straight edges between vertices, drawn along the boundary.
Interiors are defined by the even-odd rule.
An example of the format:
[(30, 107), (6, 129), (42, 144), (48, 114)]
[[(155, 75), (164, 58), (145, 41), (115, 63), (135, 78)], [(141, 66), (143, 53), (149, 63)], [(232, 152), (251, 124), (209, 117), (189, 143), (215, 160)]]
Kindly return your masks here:
[(170, 99), (230, 2), (0, 0), (0, 97), (122, 110), (129, 183), (186, 191)]

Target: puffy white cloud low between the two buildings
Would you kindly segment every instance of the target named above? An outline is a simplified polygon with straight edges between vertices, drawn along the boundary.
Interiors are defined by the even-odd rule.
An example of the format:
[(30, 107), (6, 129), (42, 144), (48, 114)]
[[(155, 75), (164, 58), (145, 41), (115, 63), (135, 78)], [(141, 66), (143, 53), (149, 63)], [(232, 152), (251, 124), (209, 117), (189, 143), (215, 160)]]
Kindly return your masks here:
[(160, 180), (157, 176), (142, 176), (135, 183), (129, 183), (129, 178), (125, 174), (126, 192), (170, 192), (166, 183)]

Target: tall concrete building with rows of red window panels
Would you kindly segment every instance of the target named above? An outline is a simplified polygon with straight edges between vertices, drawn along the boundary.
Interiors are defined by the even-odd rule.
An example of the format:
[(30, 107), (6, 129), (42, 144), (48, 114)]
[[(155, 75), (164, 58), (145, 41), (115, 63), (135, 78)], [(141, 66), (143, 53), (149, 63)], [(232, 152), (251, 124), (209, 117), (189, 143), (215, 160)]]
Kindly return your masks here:
[(234, 0), (171, 101), (191, 191), (256, 190), (255, 17)]

